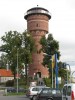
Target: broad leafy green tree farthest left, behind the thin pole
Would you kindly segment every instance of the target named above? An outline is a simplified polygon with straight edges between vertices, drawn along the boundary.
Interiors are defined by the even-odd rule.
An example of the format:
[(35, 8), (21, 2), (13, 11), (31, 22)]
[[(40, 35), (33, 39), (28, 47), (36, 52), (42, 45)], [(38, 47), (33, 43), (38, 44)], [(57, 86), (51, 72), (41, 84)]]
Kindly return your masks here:
[(1, 37), (1, 40), (3, 41), (3, 44), (0, 46), (0, 51), (6, 54), (7, 61), (9, 62), (10, 69), (12, 70), (15, 78), (17, 49), (20, 49), (22, 44), (21, 34), (17, 31), (5, 32), (5, 35)]

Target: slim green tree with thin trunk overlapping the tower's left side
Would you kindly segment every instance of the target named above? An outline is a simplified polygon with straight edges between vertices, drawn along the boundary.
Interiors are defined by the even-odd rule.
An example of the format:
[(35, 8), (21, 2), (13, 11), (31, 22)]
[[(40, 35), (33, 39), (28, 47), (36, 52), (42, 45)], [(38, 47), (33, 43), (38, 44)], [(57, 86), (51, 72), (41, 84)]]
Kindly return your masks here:
[(21, 58), (22, 62), (25, 64), (25, 72), (26, 72), (26, 84), (27, 84), (27, 67), (32, 62), (32, 52), (35, 52), (35, 42), (30, 32), (24, 31), (22, 34), (22, 52)]

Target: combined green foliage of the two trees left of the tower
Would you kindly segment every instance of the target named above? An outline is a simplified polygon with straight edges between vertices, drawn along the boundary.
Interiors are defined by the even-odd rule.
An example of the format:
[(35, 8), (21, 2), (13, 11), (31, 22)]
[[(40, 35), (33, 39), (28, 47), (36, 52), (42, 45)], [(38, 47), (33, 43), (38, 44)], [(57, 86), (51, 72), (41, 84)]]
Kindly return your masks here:
[(27, 66), (27, 64), (31, 63), (32, 61), (31, 53), (34, 49), (33, 38), (27, 31), (24, 31), (22, 34), (17, 31), (9, 31), (1, 37), (1, 40), (3, 44), (0, 46), (0, 51), (6, 54), (10, 69), (12, 70), (15, 78), (17, 54), (19, 70), (21, 70), (21, 67), (23, 67), (22, 63)]

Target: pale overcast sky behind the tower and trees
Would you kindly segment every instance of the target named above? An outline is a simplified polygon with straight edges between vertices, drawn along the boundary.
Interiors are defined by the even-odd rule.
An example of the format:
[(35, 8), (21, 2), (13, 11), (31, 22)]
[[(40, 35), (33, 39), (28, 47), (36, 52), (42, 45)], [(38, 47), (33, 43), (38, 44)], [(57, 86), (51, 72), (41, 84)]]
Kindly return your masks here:
[(60, 60), (75, 70), (75, 0), (0, 0), (0, 37), (10, 30), (26, 30), (24, 13), (37, 5), (51, 13), (49, 33), (59, 42)]

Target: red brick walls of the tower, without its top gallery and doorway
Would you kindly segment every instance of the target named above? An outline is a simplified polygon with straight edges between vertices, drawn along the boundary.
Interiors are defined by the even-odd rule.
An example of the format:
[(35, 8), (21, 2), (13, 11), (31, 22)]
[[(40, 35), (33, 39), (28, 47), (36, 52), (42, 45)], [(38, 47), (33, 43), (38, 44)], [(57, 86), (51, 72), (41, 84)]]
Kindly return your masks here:
[(27, 29), (32, 33), (37, 48), (37, 51), (32, 54), (33, 62), (29, 66), (29, 76), (33, 76), (37, 72), (41, 72), (41, 77), (49, 76), (48, 69), (42, 65), (43, 52), (38, 53), (41, 48), (39, 41), (48, 32), (48, 20), (49, 18), (46, 15), (38, 14), (30, 15), (27, 18)]

